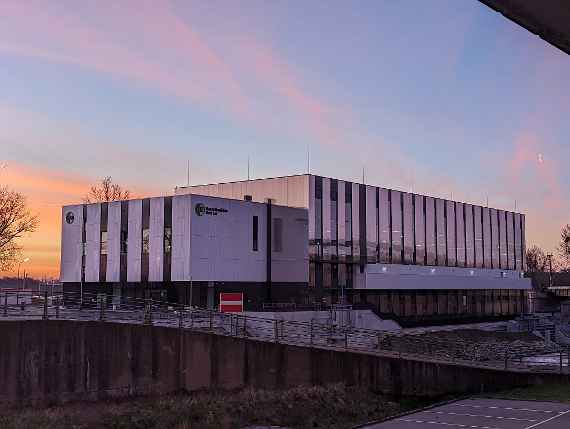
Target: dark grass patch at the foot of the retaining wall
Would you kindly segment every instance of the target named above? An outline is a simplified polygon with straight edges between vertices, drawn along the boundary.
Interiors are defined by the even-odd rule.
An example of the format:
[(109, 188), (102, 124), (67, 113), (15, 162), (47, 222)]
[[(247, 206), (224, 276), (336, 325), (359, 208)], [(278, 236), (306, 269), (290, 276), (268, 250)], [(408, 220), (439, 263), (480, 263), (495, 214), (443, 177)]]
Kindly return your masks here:
[(192, 393), (160, 398), (70, 403), (6, 410), (3, 429), (235, 429), (276, 425), (292, 429), (344, 429), (404, 412), (423, 401), (395, 402), (342, 385), (234, 393)]

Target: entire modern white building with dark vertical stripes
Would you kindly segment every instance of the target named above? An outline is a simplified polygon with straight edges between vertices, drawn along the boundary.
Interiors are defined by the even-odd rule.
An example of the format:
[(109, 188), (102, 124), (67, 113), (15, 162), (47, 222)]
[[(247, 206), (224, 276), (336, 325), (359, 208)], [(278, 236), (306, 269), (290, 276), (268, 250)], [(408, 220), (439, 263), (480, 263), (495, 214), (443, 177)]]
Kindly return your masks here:
[[(213, 306), (337, 302), (448, 320), (526, 311), (525, 217), (315, 175), (66, 206), (61, 280)], [(270, 221), (269, 221), (270, 220)]]

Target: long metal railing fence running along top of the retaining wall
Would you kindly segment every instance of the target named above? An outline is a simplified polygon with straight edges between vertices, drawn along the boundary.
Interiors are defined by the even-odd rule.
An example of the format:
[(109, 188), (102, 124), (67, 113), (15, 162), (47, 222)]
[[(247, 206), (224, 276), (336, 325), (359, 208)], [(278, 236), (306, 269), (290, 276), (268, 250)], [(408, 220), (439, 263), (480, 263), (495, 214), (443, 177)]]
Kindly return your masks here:
[(434, 335), (405, 335), (334, 323), (284, 321), (251, 314), (221, 313), (152, 299), (84, 293), (35, 295), (23, 299), (0, 291), (0, 320), (78, 320), (189, 329), (259, 341), (346, 350), (471, 367), (570, 373), (570, 349), (532, 342), (456, 341)]

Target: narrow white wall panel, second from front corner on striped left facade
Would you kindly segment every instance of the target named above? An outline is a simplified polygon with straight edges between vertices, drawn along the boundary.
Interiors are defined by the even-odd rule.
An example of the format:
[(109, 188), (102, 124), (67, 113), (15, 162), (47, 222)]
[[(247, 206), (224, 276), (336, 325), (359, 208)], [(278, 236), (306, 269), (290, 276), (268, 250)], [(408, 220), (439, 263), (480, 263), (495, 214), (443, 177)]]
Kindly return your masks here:
[(150, 199), (150, 242), (148, 255), (148, 279), (160, 282), (164, 279), (164, 198)]

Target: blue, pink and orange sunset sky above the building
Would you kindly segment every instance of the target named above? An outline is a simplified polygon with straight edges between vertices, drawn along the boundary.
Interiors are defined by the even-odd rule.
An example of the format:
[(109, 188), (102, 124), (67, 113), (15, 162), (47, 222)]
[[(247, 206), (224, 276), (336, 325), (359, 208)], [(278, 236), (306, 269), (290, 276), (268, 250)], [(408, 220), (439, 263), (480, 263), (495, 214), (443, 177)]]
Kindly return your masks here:
[[(570, 222), (570, 56), (476, 0), (2, 0), (0, 184), (41, 226), (104, 176), (137, 196), (310, 171)], [(0, 273), (9, 275), (10, 273)]]

